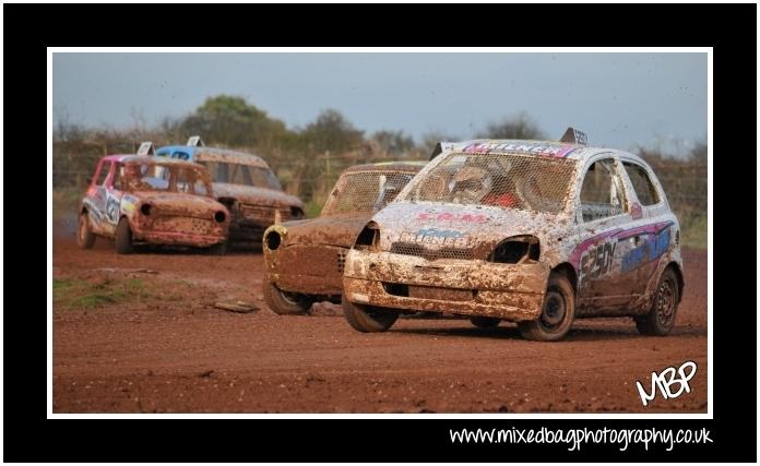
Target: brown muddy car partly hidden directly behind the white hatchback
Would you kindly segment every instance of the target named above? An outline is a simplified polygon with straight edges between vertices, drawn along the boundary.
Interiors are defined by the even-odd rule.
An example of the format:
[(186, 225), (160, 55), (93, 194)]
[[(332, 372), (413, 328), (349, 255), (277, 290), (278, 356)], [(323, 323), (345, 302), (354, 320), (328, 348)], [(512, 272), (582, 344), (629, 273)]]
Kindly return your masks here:
[(264, 232), (264, 301), (278, 314), (302, 314), (321, 300), (341, 302), (345, 254), (371, 215), (393, 201), (425, 162), (357, 165), (345, 170), (318, 218)]

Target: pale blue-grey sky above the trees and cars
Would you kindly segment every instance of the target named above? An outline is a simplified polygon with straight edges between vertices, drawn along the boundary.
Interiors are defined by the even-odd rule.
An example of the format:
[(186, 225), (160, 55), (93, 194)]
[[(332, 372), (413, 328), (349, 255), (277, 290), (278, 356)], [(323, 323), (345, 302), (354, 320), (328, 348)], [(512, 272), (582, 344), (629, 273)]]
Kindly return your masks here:
[(706, 53), (61, 53), (54, 124), (129, 128), (242, 96), (289, 128), (341, 111), (371, 134), (472, 138), (525, 112), (549, 139), (688, 150), (708, 132)]

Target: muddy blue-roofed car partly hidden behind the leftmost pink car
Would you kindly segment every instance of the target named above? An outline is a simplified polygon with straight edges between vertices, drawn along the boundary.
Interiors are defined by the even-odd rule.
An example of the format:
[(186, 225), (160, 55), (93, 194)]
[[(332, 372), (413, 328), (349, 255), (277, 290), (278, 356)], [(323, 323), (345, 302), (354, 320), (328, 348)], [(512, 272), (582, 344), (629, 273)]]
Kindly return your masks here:
[(304, 203), (283, 191), (277, 177), (261, 157), (202, 144), (193, 136), (188, 145), (161, 147), (156, 155), (192, 160), (209, 169), (216, 199), (233, 216), (230, 243), (258, 246), (264, 230), (275, 219), (305, 217)]

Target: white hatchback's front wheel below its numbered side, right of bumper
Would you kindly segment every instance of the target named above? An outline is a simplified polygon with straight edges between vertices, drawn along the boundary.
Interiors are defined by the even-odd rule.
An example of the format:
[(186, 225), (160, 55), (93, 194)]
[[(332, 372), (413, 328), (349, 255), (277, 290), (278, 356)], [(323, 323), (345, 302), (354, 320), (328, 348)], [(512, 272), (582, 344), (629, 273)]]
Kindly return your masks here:
[(535, 321), (518, 322), (525, 339), (556, 342), (570, 331), (575, 319), (575, 291), (562, 274), (553, 272), (546, 287), (541, 316)]

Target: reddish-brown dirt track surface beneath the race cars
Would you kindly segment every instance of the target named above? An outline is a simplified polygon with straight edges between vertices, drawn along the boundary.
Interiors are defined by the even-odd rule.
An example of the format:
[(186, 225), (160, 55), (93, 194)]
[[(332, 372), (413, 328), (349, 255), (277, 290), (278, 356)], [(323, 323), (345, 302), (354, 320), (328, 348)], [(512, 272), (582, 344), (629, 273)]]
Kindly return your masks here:
[[(630, 319), (582, 320), (566, 340), (512, 324), (400, 319), (360, 334), (341, 308), (280, 316), (261, 299), (263, 258), (186, 251), (117, 255), (54, 241), (55, 413), (705, 413), (706, 253), (685, 250), (668, 337)], [(246, 301), (251, 313), (213, 307)], [(651, 373), (697, 362), (691, 392), (643, 407)], [(674, 386), (674, 390), (677, 385)]]

